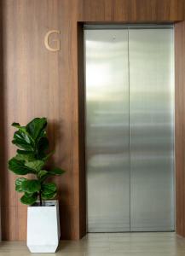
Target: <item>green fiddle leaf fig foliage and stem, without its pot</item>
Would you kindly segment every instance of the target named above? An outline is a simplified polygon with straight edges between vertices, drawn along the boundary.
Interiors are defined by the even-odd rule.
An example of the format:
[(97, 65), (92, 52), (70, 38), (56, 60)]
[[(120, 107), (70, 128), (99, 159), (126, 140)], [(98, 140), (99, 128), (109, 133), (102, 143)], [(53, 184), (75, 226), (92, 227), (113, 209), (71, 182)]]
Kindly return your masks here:
[(55, 183), (47, 183), (47, 178), (65, 172), (59, 167), (46, 167), (47, 160), (54, 153), (48, 153), (47, 119), (35, 118), (26, 126), (18, 123), (12, 125), (17, 129), (12, 143), (18, 149), (16, 155), (9, 160), (9, 170), (20, 176), (32, 174), (33, 177), (17, 177), (15, 190), (24, 193), (20, 198), (23, 204), (32, 205), (39, 199), (42, 206), (43, 200), (53, 199), (57, 194)]

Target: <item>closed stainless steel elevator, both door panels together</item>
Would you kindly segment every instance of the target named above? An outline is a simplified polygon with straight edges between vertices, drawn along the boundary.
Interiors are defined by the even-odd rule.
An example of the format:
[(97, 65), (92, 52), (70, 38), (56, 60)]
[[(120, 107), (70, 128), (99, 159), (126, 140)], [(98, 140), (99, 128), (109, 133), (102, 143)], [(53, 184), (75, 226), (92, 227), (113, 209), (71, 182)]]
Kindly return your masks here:
[(88, 232), (175, 230), (171, 25), (84, 26)]

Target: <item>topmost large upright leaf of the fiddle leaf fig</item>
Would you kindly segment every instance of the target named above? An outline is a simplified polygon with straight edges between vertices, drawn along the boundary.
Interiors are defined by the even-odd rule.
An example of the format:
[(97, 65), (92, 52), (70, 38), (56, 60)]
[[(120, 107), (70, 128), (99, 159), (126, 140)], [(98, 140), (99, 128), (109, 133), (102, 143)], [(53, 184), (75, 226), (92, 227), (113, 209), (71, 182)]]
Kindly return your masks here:
[(46, 118), (35, 118), (32, 119), (32, 121), (26, 125), (26, 131), (29, 132), (29, 134), (32, 136), (34, 140), (37, 140), (37, 138), (41, 135), (43, 136), (43, 131), (45, 127), (47, 126), (47, 119)]

